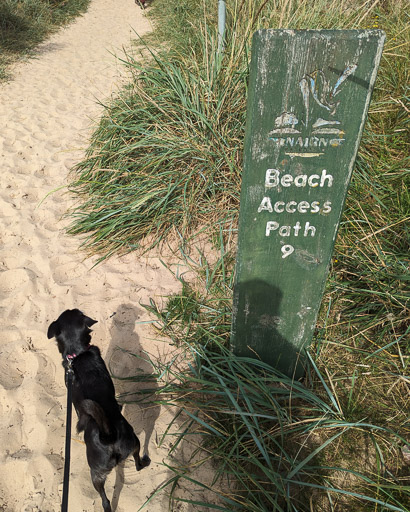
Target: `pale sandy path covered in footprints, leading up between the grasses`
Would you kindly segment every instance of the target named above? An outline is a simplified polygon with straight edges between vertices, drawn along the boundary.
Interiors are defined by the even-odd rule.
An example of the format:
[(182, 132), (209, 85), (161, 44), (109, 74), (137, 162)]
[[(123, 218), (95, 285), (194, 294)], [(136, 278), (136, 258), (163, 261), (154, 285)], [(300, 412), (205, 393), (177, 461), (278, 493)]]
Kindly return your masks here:
[[(119, 80), (121, 69), (110, 51), (120, 53), (129, 44), (131, 27), (139, 34), (150, 29), (133, 0), (93, 0), (84, 17), (43, 44), (37, 59), (16, 66), (13, 81), (0, 84), (2, 512), (60, 510), (66, 395), (60, 355), (46, 337), (51, 321), (72, 307), (98, 320), (93, 341), (122, 376), (131, 373), (135, 359), (115, 352), (117, 345), (154, 354), (166, 350), (138, 322), (148, 318), (140, 302), (175, 291), (169, 272), (158, 260), (135, 255), (91, 270), (93, 262), (83, 261), (79, 241), (62, 231), (68, 195), (57, 191), (39, 205), (81, 159), (90, 119), (101, 112), (96, 100), (106, 99)], [(139, 366), (150, 370), (147, 363)], [(165, 448), (155, 441), (169, 413), (135, 405), (125, 409), (153, 463), (137, 475), (127, 461), (114, 497), (111, 475), (107, 494), (118, 512), (138, 510), (167, 476), (157, 464)], [(85, 447), (81, 437), (73, 438), (70, 510), (101, 512)], [(166, 510), (166, 503), (157, 499), (146, 510)]]

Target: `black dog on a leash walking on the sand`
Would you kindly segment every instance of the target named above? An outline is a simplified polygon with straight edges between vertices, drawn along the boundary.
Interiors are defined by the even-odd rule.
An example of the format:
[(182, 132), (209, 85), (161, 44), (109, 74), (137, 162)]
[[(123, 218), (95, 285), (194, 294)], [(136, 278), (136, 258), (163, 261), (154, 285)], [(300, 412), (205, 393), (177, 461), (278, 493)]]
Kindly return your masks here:
[(63, 366), (73, 369), (73, 404), (77, 411), (78, 432), (84, 431), (91, 479), (99, 492), (104, 512), (111, 512), (104, 484), (108, 473), (130, 454), (137, 471), (151, 462), (141, 459), (140, 442), (121, 414), (114, 384), (98, 347), (90, 345), (90, 327), (97, 321), (78, 309), (64, 311), (50, 324), (48, 338), (55, 337), (63, 356)]

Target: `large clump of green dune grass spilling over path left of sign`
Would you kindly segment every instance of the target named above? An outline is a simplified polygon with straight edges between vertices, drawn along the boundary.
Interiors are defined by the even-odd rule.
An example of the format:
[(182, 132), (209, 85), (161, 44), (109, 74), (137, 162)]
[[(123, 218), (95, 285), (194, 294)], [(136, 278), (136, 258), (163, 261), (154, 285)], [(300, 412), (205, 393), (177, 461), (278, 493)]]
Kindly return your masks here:
[(108, 108), (70, 186), (81, 202), (69, 232), (88, 233), (85, 248), (102, 259), (235, 214), (246, 56), (222, 64), (214, 39), (203, 44), (190, 66), (154, 53), (151, 63), (126, 61), (132, 85)]

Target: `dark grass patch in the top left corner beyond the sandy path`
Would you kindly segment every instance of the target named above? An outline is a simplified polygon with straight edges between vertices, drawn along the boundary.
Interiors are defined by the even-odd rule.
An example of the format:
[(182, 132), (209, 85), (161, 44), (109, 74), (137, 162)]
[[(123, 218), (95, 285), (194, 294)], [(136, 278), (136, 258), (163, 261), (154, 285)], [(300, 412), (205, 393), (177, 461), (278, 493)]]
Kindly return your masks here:
[(48, 34), (83, 13), (90, 0), (2, 0), (0, 2), (0, 79), (8, 67), (30, 55)]

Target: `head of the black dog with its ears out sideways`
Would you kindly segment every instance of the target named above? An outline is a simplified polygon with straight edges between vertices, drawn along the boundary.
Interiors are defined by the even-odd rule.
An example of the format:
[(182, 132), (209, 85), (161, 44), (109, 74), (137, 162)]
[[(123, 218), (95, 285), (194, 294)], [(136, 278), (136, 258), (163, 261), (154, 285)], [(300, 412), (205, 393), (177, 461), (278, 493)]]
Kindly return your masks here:
[(79, 309), (67, 309), (52, 322), (47, 331), (48, 339), (55, 337), (63, 358), (67, 354), (79, 355), (91, 341), (90, 327), (97, 323)]

